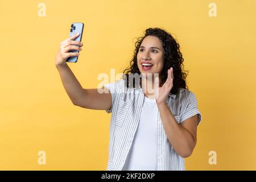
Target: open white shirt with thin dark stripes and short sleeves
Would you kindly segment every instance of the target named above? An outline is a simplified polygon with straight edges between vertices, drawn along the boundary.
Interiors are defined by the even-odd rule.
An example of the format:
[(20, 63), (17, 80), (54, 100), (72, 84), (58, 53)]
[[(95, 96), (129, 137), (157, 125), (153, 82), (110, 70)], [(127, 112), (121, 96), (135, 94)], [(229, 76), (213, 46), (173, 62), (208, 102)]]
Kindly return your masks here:
[[(134, 135), (141, 116), (144, 101), (142, 88), (127, 88), (122, 78), (117, 82), (104, 85), (112, 95), (112, 107), (106, 110), (112, 113), (109, 131), (109, 160), (108, 171), (121, 171), (129, 150), (133, 143)], [(179, 88), (177, 96), (170, 94), (167, 99), (174, 118), (182, 123), (193, 115), (199, 114), (197, 123), (201, 121), (201, 113), (197, 109), (195, 94)], [(158, 111), (158, 144), (157, 167), (158, 171), (185, 170), (184, 158), (176, 153), (164, 131)]]

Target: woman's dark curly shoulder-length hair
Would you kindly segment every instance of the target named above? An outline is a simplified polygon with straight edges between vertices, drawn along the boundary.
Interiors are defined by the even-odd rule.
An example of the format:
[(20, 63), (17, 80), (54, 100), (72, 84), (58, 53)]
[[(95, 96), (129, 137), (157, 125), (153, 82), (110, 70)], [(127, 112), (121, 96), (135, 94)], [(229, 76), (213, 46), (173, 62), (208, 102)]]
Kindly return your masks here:
[(185, 82), (185, 78), (188, 75), (185, 72), (188, 71), (183, 72), (184, 59), (180, 52), (180, 45), (176, 42), (170, 33), (161, 28), (147, 28), (144, 36), (137, 38), (137, 42), (135, 42), (133, 59), (130, 61), (130, 66), (126, 68), (125, 71), (123, 71), (123, 78), (126, 79), (126, 86), (129, 87), (130, 73), (138, 73), (138, 75), (141, 74), (137, 65), (137, 54), (139, 52), (139, 47), (141, 46), (142, 41), (148, 35), (156, 36), (159, 38), (164, 49), (164, 67), (162, 73), (159, 74), (159, 76), (162, 77), (162, 82), (160, 82), (159, 85), (162, 86), (164, 82), (166, 82), (168, 76), (167, 71), (172, 67), (174, 70), (174, 86), (172, 87), (170, 94), (177, 94), (179, 88), (188, 89), (188, 86)]

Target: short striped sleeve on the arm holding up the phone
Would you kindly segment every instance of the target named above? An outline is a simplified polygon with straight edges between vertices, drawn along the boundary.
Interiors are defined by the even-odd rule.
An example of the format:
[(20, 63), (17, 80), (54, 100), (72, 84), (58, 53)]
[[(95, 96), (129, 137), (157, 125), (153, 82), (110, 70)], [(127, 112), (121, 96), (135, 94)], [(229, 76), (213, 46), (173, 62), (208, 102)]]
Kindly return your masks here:
[(113, 105), (117, 100), (117, 94), (120, 92), (122, 84), (123, 84), (122, 79), (120, 79), (116, 82), (112, 82), (104, 85), (104, 87), (106, 87), (111, 93), (111, 108), (107, 109), (106, 113), (112, 113)]

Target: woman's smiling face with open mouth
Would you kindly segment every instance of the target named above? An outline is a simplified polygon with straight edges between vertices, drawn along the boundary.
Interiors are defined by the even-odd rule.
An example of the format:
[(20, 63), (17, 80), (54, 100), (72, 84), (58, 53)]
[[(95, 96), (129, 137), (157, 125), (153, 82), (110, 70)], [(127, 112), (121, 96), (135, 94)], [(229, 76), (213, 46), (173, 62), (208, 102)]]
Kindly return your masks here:
[(161, 40), (156, 36), (146, 36), (137, 54), (137, 64), (141, 73), (160, 73), (164, 65), (164, 49)]

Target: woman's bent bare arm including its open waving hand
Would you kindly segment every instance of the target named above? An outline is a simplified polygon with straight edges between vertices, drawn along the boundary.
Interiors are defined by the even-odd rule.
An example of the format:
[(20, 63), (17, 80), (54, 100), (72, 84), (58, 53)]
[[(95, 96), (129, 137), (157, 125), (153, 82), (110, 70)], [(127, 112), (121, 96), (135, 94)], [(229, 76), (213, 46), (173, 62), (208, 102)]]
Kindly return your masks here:
[(163, 123), (164, 131), (174, 150), (183, 158), (187, 158), (192, 154), (196, 146), (196, 130), (197, 130), (197, 115), (186, 119), (179, 125), (174, 115), (171, 113), (166, 101), (172, 86), (174, 85), (173, 68), (168, 69), (168, 78), (162, 87), (159, 87), (159, 78), (156, 78), (156, 90), (158, 91), (158, 98), (156, 104), (158, 105), (160, 118)]

